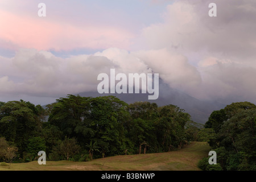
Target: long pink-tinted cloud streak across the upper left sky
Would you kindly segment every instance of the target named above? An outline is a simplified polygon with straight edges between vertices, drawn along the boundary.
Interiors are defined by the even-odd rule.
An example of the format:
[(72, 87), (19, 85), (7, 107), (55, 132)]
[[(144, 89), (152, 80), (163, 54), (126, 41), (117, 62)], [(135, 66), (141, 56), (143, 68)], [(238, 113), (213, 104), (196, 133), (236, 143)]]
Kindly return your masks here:
[[(57, 22), (51, 17), (24, 16), (0, 10), (1, 47), (55, 49), (129, 49), (133, 35), (120, 27), (83, 22), (82, 25)], [(5, 45), (6, 44), (6, 45)]]

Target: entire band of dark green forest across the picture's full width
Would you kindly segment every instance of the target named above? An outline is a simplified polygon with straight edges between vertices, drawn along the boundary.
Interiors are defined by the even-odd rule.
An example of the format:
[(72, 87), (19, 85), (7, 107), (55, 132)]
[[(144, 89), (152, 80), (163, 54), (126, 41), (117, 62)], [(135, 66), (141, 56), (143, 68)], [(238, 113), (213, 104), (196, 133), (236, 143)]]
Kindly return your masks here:
[[(23, 100), (0, 102), (0, 162), (89, 161), (106, 156), (179, 150), (208, 142), (217, 165), (204, 170), (256, 169), (256, 106), (236, 102), (213, 111), (205, 125), (175, 105), (126, 104), (114, 96), (68, 95), (43, 108)], [(255, 134), (254, 134), (255, 133)]]

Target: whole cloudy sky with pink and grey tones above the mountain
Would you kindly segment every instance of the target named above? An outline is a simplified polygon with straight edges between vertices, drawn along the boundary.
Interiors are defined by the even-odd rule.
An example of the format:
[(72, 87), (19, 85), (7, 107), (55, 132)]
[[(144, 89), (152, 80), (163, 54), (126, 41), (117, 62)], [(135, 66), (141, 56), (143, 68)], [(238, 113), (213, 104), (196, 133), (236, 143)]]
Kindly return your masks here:
[(0, 101), (96, 91), (114, 68), (159, 73), (199, 100), (256, 103), (255, 19), (255, 0), (0, 0)]

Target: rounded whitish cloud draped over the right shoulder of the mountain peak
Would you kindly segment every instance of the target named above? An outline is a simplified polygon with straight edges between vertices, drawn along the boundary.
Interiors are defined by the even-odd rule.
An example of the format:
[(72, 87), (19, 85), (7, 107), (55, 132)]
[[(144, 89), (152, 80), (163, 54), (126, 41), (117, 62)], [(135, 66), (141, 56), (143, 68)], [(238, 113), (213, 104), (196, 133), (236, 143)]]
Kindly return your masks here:
[(173, 88), (187, 91), (201, 82), (200, 73), (188, 63), (187, 57), (167, 49), (135, 53), (159, 77)]

